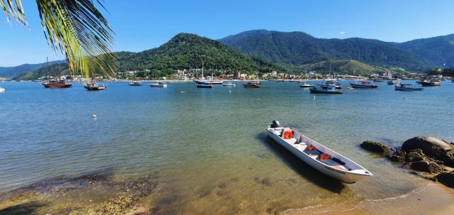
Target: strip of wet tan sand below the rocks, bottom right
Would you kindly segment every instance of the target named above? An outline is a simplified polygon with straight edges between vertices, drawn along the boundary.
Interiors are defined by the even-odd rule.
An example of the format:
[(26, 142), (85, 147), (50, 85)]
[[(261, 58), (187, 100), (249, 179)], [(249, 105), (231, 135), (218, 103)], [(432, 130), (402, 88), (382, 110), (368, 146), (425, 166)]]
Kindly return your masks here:
[(299, 214), (453, 214), (454, 189), (436, 182), (397, 197), (386, 199), (364, 200), (351, 209), (338, 210), (326, 206), (308, 206), (304, 209), (290, 209), (282, 212), (286, 215)]

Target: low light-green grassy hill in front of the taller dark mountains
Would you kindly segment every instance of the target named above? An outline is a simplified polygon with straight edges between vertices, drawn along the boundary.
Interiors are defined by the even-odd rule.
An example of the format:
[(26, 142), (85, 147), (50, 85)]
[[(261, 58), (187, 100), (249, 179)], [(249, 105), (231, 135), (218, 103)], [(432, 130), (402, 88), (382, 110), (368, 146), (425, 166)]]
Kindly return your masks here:
[[(331, 70), (330, 70), (331, 67)], [(404, 73), (406, 70), (403, 68), (383, 68), (374, 65), (367, 65), (357, 60), (327, 60), (322, 62), (316, 62), (306, 65), (299, 65), (294, 70), (299, 71), (311, 71), (316, 70), (322, 73), (338, 73), (340, 75), (371, 75), (371, 74), (382, 74), (387, 70), (394, 73)]]

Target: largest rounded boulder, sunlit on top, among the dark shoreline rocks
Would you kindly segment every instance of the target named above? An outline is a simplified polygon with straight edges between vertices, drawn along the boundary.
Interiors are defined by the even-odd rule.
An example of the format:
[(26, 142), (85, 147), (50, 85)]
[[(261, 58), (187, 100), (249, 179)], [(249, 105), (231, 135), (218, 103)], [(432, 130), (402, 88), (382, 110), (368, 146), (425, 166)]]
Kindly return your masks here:
[(402, 150), (410, 151), (421, 149), (425, 155), (436, 160), (443, 160), (445, 153), (451, 150), (453, 145), (446, 140), (441, 140), (434, 137), (418, 136), (406, 140), (402, 145)]

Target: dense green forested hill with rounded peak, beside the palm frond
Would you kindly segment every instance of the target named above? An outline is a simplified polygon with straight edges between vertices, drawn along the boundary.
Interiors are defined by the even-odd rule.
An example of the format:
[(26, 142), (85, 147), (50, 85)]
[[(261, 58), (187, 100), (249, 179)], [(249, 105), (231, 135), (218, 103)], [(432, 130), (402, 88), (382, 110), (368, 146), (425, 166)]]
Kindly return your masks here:
[(267, 72), (282, 70), (270, 62), (255, 59), (216, 40), (189, 33), (179, 33), (158, 48), (140, 53), (118, 54), (118, 71), (201, 68)]

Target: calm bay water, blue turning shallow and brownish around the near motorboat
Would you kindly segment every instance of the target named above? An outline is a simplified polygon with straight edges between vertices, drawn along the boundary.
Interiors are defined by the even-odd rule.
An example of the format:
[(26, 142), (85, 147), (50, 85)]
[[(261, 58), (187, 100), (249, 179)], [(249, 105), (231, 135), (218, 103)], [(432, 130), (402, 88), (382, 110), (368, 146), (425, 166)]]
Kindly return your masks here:
[[(453, 141), (454, 84), (423, 92), (378, 84), (314, 98), (296, 82), (262, 82), (260, 89), (114, 82), (105, 92), (87, 92), (82, 84), (44, 89), (34, 82), (1, 83), (0, 192), (111, 168), (118, 179), (156, 174), (161, 185), (150, 204), (163, 213), (270, 213), (394, 197), (426, 182), (359, 143), (399, 146), (414, 136)], [(343, 184), (321, 175), (266, 137), (273, 119), (374, 177)]]

